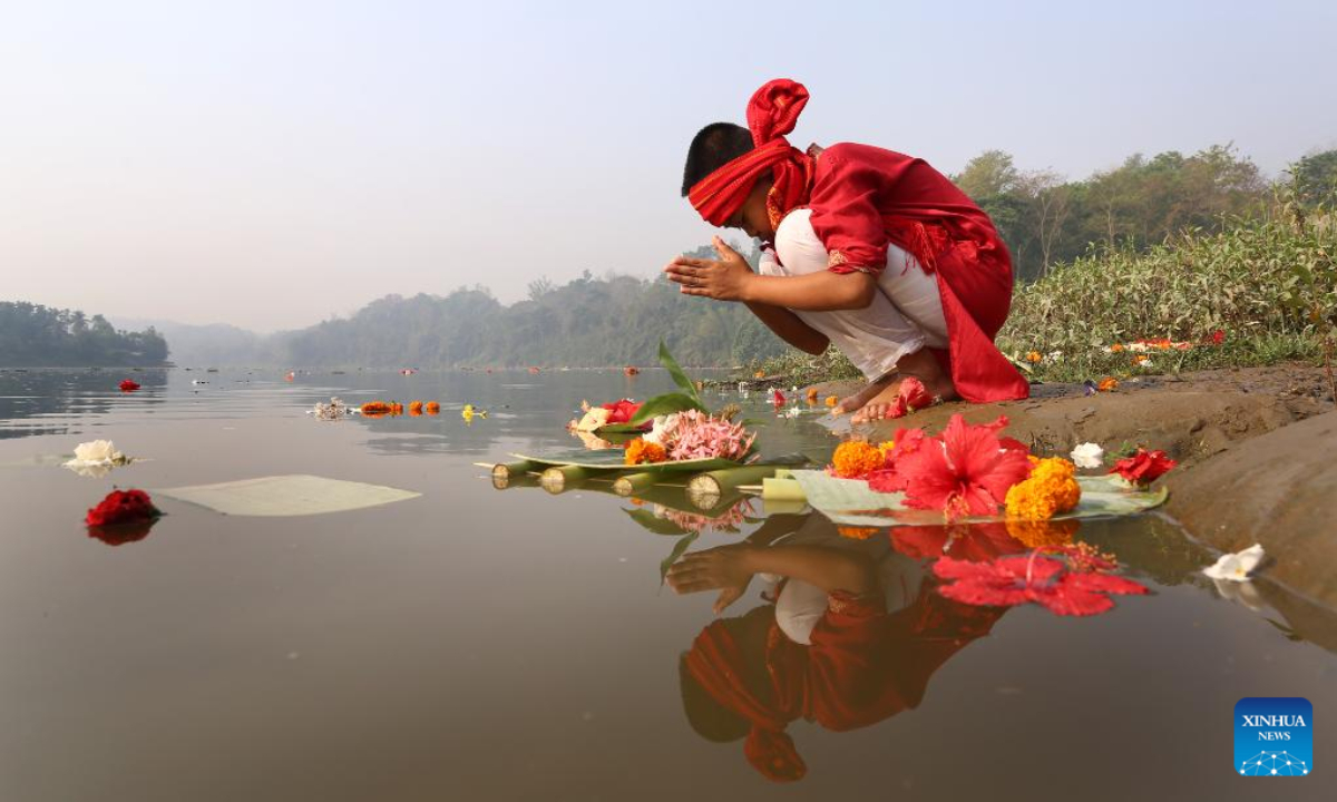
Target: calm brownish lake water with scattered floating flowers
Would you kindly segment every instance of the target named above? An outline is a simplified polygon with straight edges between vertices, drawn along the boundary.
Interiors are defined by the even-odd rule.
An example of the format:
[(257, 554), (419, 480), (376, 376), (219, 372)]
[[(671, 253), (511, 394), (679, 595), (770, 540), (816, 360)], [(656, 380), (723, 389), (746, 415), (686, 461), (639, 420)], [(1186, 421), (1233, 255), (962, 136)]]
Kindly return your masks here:
[[(118, 393), (124, 376), (143, 389)], [(854, 541), (821, 516), (767, 519), (759, 500), (710, 523), (681, 493), (499, 491), (475, 466), (571, 448), (563, 424), (582, 398), (667, 386), (660, 372), (0, 373), (0, 799), (1330, 798), (1332, 616), (1265, 580), (1223, 599), (1197, 573), (1213, 555), (1157, 517), (1078, 535), (1151, 596), (1087, 619), (963, 611), (912, 559), (940, 552), (941, 531)], [(330, 396), (443, 412), (305, 414)], [(467, 402), (489, 417), (467, 424)], [(771, 452), (833, 445), (802, 418), (762, 437)], [(146, 461), (100, 479), (59, 466), (94, 438)], [(159, 496), (167, 515), (142, 540), (108, 545), (83, 527), (114, 484), (281, 473), (421, 496), (310, 517)], [(659, 569), (694, 528), (691, 549), (825, 544), (901, 593), (884, 642), (860, 647), (877, 671), (846, 671), (872, 654), (858, 648), (833, 663), (783, 646), (797, 782), (754, 769), (741, 719), (683, 680), (714, 593), (675, 595)], [(763, 584), (725, 612), (745, 672), (766, 664)], [(1313, 703), (1318, 777), (1238, 777), (1242, 696)]]

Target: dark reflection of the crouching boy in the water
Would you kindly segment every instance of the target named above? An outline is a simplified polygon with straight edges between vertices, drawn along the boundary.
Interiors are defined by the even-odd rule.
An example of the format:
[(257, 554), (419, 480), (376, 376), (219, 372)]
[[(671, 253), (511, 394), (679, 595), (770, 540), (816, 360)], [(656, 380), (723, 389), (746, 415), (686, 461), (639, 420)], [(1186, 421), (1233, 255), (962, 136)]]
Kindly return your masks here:
[(767, 573), (773, 604), (702, 630), (679, 676), (693, 728), (715, 742), (746, 737), (747, 761), (778, 782), (806, 773), (790, 722), (844, 731), (919, 706), (937, 667), (1003, 614), (943, 599), (885, 539), (842, 539), (821, 516), (778, 545), (687, 555), (668, 581), (678, 592), (721, 589), (721, 611)]

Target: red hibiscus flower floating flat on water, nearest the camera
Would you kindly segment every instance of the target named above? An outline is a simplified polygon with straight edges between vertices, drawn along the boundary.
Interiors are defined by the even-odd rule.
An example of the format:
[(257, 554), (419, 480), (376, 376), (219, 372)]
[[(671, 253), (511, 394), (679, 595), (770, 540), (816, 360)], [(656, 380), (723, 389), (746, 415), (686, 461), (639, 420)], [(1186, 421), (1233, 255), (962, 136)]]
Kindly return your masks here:
[(1098, 615), (1114, 608), (1110, 593), (1146, 595), (1146, 585), (1099, 571), (1071, 571), (1063, 560), (1029, 556), (971, 563), (943, 557), (933, 564), (937, 592), (965, 604), (1015, 607), (1035, 602), (1055, 615)]

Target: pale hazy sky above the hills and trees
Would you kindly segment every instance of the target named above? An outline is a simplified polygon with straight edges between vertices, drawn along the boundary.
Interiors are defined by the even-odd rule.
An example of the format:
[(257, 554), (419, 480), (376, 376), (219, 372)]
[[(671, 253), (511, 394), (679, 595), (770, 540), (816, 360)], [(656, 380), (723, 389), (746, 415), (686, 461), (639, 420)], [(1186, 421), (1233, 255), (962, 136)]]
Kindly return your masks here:
[[(460, 7), (456, 7), (460, 5)], [(1337, 147), (1337, 3), (0, 0), (0, 299), (262, 330), (707, 239), (705, 123), (1086, 176)]]

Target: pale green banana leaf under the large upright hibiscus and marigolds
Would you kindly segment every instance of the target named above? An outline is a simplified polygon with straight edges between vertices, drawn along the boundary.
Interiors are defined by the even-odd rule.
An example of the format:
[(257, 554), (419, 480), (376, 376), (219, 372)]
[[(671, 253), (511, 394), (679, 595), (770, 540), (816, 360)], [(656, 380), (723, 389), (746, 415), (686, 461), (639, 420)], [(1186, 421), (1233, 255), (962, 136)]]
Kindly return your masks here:
[[(779, 485), (794, 481), (804, 497), (814, 509), (836, 524), (852, 527), (906, 527), (941, 525), (943, 513), (936, 509), (912, 509), (905, 507), (904, 493), (878, 493), (857, 479), (837, 479), (821, 471), (794, 471), (793, 480), (771, 480), (767, 488), (779, 489), (792, 499), (796, 488)], [(1135, 491), (1111, 476), (1079, 476), (1082, 501), (1076, 509), (1058, 515), (1054, 520), (1116, 517), (1136, 515), (1154, 509), (1169, 497), (1169, 491)], [(960, 523), (991, 523), (1005, 520), (1007, 516), (960, 519)]]

